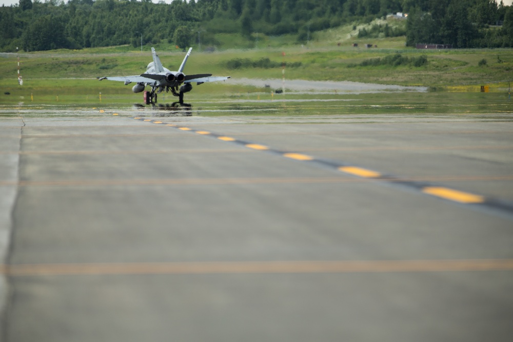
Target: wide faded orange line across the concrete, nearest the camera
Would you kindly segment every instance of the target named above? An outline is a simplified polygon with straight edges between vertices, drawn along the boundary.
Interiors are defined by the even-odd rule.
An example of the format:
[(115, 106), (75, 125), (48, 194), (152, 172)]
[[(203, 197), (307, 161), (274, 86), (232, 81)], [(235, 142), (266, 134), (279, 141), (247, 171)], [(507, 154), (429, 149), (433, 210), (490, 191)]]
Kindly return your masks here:
[(513, 259), (234, 261), (191, 263), (0, 265), (12, 277), (119, 274), (314, 274), (513, 271)]

